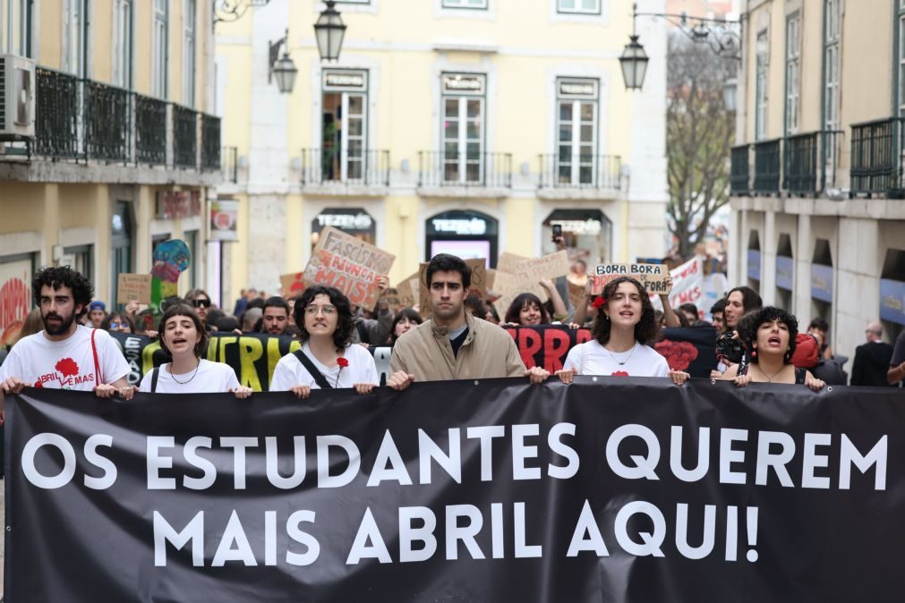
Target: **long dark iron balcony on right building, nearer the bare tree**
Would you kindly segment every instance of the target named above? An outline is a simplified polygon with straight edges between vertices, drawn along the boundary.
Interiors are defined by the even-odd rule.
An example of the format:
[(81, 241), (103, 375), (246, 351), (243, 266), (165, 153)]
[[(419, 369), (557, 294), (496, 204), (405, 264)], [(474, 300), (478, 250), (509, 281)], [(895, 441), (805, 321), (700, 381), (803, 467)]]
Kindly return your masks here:
[(733, 146), (731, 194), (816, 195), (834, 188), (843, 134), (840, 130), (820, 130)]

